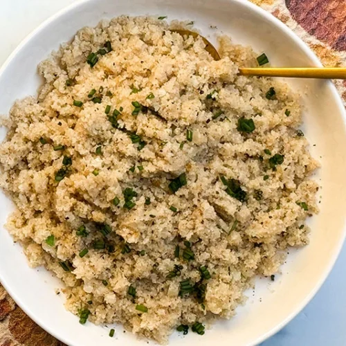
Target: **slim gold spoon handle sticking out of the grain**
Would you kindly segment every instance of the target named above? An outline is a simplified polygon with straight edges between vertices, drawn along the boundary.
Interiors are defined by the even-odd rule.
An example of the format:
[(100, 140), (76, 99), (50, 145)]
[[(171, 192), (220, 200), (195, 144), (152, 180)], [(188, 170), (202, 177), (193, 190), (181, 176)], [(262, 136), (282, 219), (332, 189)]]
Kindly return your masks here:
[(268, 67), (239, 69), (240, 75), (258, 75), (264, 77), (322, 78), (346, 80), (346, 68), (343, 67)]

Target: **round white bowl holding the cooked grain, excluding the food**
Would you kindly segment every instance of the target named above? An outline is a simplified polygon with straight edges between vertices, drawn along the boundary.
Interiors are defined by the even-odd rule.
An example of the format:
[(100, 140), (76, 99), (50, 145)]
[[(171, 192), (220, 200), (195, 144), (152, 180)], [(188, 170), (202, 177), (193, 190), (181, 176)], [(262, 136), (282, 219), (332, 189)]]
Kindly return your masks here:
[[(73, 4), (48, 19), (9, 57), (0, 70), (0, 113), (12, 103), (33, 95), (41, 82), (37, 64), (57, 50), (83, 26), (95, 26), (103, 18), (118, 15), (167, 15), (168, 19), (194, 20), (203, 35), (227, 33), (234, 41), (265, 51), (273, 66), (320, 66), (309, 48), (284, 24), (267, 12), (241, 0), (89, 0)], [(217, 30), (210, 28), (217, 26)], [(346, 129), (345, 109), (333, 84), (318, 80), (287, 80), (300, 91), (305, 105), (304, 134), (313, 156), (322, 168), (315, 179), (321, 185), (320, 214), (310, 220), (311, 244), (290, 251), (283, 275), (273, 283), (257, 280), (255, 295), (248, 292), (237, 316), (221, 321), (204, 336), (173, 334), (170, 345), (255, 345), (271, 336), (293, 318), (313, 297), (327, 277), (345, 237), (346, 210)], [(1, 129), (1, 136), (5, 131)], [(312, 146), (315, 145), (316, 146)], [(56, 295), (60, 282), (43, 268), (30, 269), (21, 247), (3, 229), (13, 206), (0, 194), (0, 280), (12, 298), (41, 327), (70, 346), (147, 345), (116, 327), (91, 323), (82, 326), (64, 309), (64, 298)]]

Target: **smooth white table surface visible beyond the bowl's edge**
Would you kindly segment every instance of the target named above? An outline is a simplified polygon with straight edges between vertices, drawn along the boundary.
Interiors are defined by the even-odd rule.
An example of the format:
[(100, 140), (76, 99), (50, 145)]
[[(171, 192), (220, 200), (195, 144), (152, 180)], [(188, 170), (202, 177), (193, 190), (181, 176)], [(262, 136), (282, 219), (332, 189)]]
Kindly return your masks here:
[[(58, 10), (75, 1), (1, 0), (0, 66), (30, 31)], [(345, 264), (346, 246), (315, 298), (289, 325), (261, 346), (346, 345)]]

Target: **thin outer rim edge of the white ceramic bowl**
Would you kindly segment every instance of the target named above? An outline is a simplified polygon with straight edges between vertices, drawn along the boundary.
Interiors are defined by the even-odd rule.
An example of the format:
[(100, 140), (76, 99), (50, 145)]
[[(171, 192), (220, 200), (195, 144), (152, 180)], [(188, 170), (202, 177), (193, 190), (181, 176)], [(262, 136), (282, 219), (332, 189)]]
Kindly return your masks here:
[[(74, 8), (78, 8), (82, 4), (87, 3), (89, 1), (93, 1), (93, 0), (78, 0), (75, 3), (72, 3), (70, 6), (67, 6), (66, 8), (63, 8), (62, 10), (57, 12), (55, 15), (49, 17), (42, 24), (40, 24), (35, 30), (33, 30), (32, 33), (30, 33), (19, 44), (19, 46), (17, 46), (17, 48), (15, 48), (15, 51), (13, 51), (10, 54), (10, 56), (8, 57), (6, 62), (4, 62), (3, 66), (1, 66), (0, 76), (3, 74), (4, 71), (6, 71), (8, 65), (10, 64), (10, 62), (12, 62), (14, 57), (21, 51), (22, 48), (24, 48), (26, 46), (26, 44), (28, 44), (30, 42), (30, 39), (35, 37), (35, 35), (37, 33), (39, 33), (40, 31), (44, 30), (49, 24), (51, 24), (52, 22), (54, 22), (57, 19), (59, 19), (66, 12), (69, 12), (69, 11), (73, 10)], [(293, 31), (291, 29), (289, 29), (285, 24), (283, 24), (282, 21), (280, 21), (279, 19), (275, 18), (269, 12), (266, 12), (266, 10), (256, 6), (255, 4), (253, 4), (253, 3), (249, 2), (249, 1), (244, 1), (244, 0), (228, 0), (228, 1), (234, 2), (234, 3), (239, 3), (242, 6), (244, 6), (244, 8), (247, 8), (248, 10), (253, 11), (253, 12), (257, 12), (257, 14), (261, 15), (267, 21), (271, 21), (273, 24), (275, 24), (275, 26), (280, 28), (280, 30), (282, 30), (286, 35), (289, 35), (289, 37), (291, 37), (295, 41), (296, 44), (298, 44), (298, 46), (302, 49), (304, 54), (306, 54), (309, 57), (309, 59), (311, 59), (311, 61), (313, 62), (313, 64), (315, 66), (322, 67), (321, 62), (318, 60), (318, 57), (316, 57), (316, 55), (311, 51), (309, 46), (307, 46), (307, 44), (305, 44), (302, 41), (302, 39), (300, 39), (300, 37), (295, 35), (295, 33), (293, 33)], [(334, 94), (334, 98), (338, 102), (338, 107), (340, 108), (340, 113), (343, 114), (343, 120), (344, 120), (344, 122), (346, 122), (345, 108), (343, 106), (343, 102), (342, 102), (342, 100), (340, 98), (340, 95), (338, 94), (338, 91), (336, 90), (336, 87), (334, 86), (334, 84), (332, 82), (329, 82), (329, 84), (330, 84), (329, 87), (331, 88), (331, 91)], [(346, 235), (346, 228), (345, 228), (345, 225), (344, 225), (343, 241), (345, 240), (345, 235)], [(257, 340), (257, 343), (261, 343), (262, 341), (266, 340), (266, 338), (269, 338), (270, 336), (275, 334), (277, 331), (282, 329), (282, 327), (284, 327), (288, 322), (290, 322), (308, 304), (308, 302), (313, 298), (313, 296), (316, 294), (318, 289), (320, 289), (320, 286), (322, 286), (323, 282), (325, 282), (327, 276), (329, 275), (329, 273), (331, 271), (331, 268), (334, 266), (334, 264), (336, 262), (336, 259), (337, 259), (338, 255), (339, 255), (342, 247), (343, 247), (343, 242), (340, 242), (338, 248), (336, 249), (334, 254), (330, 257), (329, 266), (328, 266), (327, 270), (324, 273), (322, 273), (322, 275), (320, 275), (319, 282), (316, 283), (315, 288), (310, 292), (310, 294), (307, 295), (307, 297), (304, 300), (300, 301), (300, 304), (298, 304), (296, 309), (289, 316), (287, 316), (284, 320), (282, 320), (282, 322), (280, 322), (275, 328), (271, 329), (271, 331), (268, 331), (266, 334), (264, 334), (262, 336), (262, 338), (259, 338)], [(46, 325), (46, 322), (44, 320), (40, 320), (39, 318), (37, 318), (37, 316), (35, 316), (33, 313), (31, 313), (30, 309), (26, 305), (26, 302), (21, 297), (17, 296), (15, 293), (11, 292), (10, 284), (8, 284), (8, 282), (6, 282), (6, 280), (4, 280), (4, 277), (1, 276), (1, 272), (0, 272), (0, 281), (1, 281), (1, 284), (4, 286), (4, 288), (6, 289), (6, 291), (8, 291), (8, 293), (10, 293), (10, 295), (13, 298), (13, 300), (15, 300), (15, 302), (19, 305), (19, 307), (21, 307), (21, 309), (32, 320), (34, 320), (37, 323), (37, 325), (39, 325), (40, 327), (45, 329), (49, 334), (55, 336), (55, 338), (61, 340), (63, 343), (68, 344), (68, 342), (69, 342), (68, 340), (65, 340), (64, 338), (62, 338), (61, 335), (58, 335), (57, 332), (54, 329), (52, 329), (49, 325)]]

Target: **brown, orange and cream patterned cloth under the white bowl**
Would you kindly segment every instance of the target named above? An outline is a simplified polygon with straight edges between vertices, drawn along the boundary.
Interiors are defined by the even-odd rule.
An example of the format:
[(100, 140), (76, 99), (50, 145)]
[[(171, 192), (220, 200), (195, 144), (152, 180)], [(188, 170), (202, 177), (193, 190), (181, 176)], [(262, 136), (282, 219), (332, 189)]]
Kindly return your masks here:
[[(346, 66), (345, 0), (251, 1), (289, 26), (325, 66)], [(346, 81), (335, 83), (346, 105)], [(30, 320), (0, 284), (0, 346), (65, 345)]]

